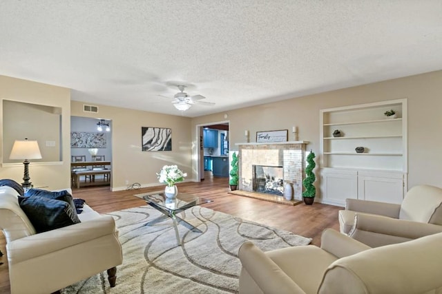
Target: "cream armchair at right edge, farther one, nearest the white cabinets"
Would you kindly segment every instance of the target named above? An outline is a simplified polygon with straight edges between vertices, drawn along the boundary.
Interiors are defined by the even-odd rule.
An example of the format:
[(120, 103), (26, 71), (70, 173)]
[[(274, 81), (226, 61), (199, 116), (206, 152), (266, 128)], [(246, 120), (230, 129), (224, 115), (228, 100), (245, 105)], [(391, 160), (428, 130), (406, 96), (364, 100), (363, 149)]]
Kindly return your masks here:
[(401, 204), (347, 199), (340, 231), (371, 247), (442, 232), (442, 189), (412, 187)]

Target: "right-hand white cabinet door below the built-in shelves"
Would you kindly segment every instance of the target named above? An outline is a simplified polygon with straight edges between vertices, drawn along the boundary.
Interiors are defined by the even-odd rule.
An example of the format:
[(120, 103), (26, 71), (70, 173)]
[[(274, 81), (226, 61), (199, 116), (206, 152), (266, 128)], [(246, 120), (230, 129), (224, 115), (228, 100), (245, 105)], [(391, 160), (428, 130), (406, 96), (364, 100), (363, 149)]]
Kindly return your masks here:
[(404, 196), (404, 178), (399, 173), (360, 171), (358, 173), (358, 198), (401, 204)]

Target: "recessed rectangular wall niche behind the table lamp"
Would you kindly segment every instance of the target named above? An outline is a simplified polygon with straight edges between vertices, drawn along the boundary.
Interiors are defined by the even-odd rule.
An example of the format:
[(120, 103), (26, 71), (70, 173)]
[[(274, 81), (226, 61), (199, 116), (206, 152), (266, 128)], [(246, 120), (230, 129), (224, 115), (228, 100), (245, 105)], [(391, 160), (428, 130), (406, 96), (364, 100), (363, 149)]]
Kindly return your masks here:
[(3, 100), (3, 163), (10, 160), (15, 140), (37, 140), (41, 159), (32, 162), (61, 161), (61, 107)]

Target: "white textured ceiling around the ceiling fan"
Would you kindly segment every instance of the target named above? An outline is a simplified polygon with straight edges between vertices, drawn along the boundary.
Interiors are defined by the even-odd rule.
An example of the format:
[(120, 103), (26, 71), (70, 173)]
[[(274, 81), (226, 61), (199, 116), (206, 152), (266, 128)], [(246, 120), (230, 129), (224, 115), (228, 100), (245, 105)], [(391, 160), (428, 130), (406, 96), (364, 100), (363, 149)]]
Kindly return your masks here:
[[(1, 0), (0, 74), (200, 116), (442, 69), (441, 0)], [(162, 95), (162, 96), (160, 96)]]

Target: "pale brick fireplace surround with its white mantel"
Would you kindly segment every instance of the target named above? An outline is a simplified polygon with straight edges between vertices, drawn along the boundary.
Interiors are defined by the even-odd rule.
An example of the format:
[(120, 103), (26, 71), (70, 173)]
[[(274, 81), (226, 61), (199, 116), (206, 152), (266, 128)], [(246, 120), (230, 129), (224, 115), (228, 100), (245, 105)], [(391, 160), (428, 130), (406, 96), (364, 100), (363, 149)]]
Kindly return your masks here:
[[(302, 180), (305, 170), (305, 147), (308, 141), (274, 143), (238, 143), (239, 189), (253, 192), (253, 165), (283, 167), (284, 187), (287, 182), (294, 188), (294, 198), (302, 199)], [(283, 197), (283, 196), (280, 196)]]

